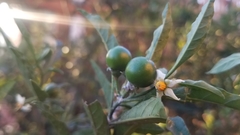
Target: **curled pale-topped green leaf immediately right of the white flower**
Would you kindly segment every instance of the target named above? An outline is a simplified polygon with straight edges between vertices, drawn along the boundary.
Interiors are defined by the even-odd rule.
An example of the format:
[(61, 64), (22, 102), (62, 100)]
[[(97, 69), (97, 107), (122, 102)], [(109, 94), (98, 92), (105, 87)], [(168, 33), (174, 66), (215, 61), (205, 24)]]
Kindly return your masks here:
[(213, 97), (216, 97), (217, 98), (216, 100), (218, 100), (219, 98), (221, 99), (225, 98), (225, 96), (218, 88), (202, 80), (200, 81), (185, 80), (183, 83), (180, 83), (180, 85), (190, 88), (191, 96), (197, 97), (199, 96), (200, 98), (210, 98), (212, 100), (214, 100)]

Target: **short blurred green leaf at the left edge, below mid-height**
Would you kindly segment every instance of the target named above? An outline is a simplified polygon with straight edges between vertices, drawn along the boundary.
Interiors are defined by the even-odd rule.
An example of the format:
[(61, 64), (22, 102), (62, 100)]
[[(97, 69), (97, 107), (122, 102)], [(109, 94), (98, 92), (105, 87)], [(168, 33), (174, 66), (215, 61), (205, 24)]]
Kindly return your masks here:
[(7, 81), (0, 87), (0, 101), (8, 94), (8, 92), (13, 88), (15, 85), (15, 81)]

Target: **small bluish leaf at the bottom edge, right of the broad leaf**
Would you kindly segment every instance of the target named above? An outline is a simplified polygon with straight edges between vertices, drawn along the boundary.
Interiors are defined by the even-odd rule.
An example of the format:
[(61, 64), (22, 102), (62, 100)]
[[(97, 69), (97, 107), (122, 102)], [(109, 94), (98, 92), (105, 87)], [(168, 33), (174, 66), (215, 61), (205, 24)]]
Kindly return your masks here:
[(167, 127), (174, 135), (190, 135), (184, 120), (179, 116), (170, 117), (167, 121)]

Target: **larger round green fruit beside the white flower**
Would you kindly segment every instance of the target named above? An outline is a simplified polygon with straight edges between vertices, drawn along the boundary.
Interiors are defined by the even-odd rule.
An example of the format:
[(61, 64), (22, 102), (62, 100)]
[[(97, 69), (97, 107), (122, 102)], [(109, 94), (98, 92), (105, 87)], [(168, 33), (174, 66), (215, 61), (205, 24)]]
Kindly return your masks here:
[(151, 60), (145, 57), (136, 57), (128, 63), (125, 75), (133, 85), (147, 87), (154, 83), (157, 71)]

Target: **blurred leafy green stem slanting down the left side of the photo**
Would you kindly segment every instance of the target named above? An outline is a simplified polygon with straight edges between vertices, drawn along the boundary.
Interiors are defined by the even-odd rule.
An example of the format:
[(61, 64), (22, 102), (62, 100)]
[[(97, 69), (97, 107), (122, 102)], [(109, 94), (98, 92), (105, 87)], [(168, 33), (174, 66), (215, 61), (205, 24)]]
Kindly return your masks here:
[[(18, 64), (21, 76), (24, 78), (24, 82), (27, 88), (26, 90), (30, 90), (32, 94), (32, 97), (27, 99), (25, 103), (34, 103), (33, 105), (37, 106), (41, 114), (52, 124), (57, 134), (69, 135), (70, 133), (65, 123), (58, 120), (58, 117), (56, 116), (57, 114), (61, 115), (63, 109), (59, 105), (53, 103), (51, 100), (47, 100), (47, 93), (41, 89), (44, 83), (44, 76), (47, 75), (47, 73), (43, 73), (39, 62), (42, 60), (50, 59), (52, 54), (51, 49), (46, 48), (45, 51), (43, 51), (42, 54), (37, 57), (33, 48), (33, 44), (30, 40), (31, 36), (28, 34), (26, 28), (21, 23), (18, 25), (19, 29), (22, 32), (25, 45), (28, 48), (27, 52), (22, 53), (20, 51), (20, 48), (15, 48), (1, 28), (0, 33), (3, 35), (4, 40), (7, 43), (7, 48), (10, 50)], [(17, 79), (18, 81), (21, 80), (21, 78)], [(33, 81), (35, 79), (39, 81), (39, 84)], [(6, 95), (5, 92), (10, 91), (13, 88), (14, 84), (15, 82), (13, 81), (9, 81), (7, 83), (7, 85), (4, 87), (4, 92), (1, 94), (2, 97)], [(34, 95), (37, 96), (37, 99), (34, 97)]]

